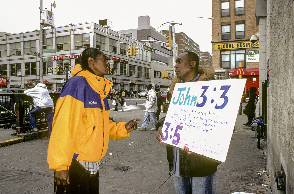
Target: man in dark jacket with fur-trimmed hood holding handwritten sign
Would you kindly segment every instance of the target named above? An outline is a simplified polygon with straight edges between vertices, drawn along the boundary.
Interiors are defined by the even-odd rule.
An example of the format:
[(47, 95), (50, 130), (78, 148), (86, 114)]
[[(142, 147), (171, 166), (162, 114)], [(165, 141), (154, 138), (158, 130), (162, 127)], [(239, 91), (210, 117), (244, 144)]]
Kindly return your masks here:
[[(182, 52), (177, 57), (175, 65), (177, 78), (171, 84), (172, 92), (176, 83), (215, 80), (214, 70), (211, 66), (201, 66), (198, 69), (198, 64), (199, 59), (194, 52)], [(165, 118), (160, 119), (156, 125), (156, 138), (160, 143), (162, 138), (165, 138), (162, 129), (164, 120)], [(184, 146), (184, 149), (181, 149), (167, 144), (166, 152), (169, 169), (173, 171), (173, 181), (177, 194), (216, 193), (215, 172), (217, 171), (218, 164), (220, 164), (219, 161), (190, 152), (186, 146)]]

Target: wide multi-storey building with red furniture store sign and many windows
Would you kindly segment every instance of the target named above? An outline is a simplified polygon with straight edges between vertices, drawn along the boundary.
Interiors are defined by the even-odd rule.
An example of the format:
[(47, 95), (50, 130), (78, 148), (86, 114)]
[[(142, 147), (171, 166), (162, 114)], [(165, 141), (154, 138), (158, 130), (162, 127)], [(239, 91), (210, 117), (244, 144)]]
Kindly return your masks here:
[[(116, 31), (93, 23), (81, 23), (44, 29), (43, 68), (39, 69), (39, 31), (0, 33), (0, 87), (30, 88), (43, 72), (43, 83), (48, 89), (59, 91), (66, 81), (64, 57), (69, 57), (69, 77), (72, 68), (80, 63), (85, 48), (96, 47), (110, 60), (111, 74), (105, 77), (117, 90), (141, 90), (151, 83), (151, 57), (140, 42)], [(43, 31), (44, 31), (43, 30)], [(138, 55), (127, 55), (130, 45), (138, 47)], [(146, 50), (147, 49), (147, 50)], [(59, 72), (55, 72), (59, 67)]]

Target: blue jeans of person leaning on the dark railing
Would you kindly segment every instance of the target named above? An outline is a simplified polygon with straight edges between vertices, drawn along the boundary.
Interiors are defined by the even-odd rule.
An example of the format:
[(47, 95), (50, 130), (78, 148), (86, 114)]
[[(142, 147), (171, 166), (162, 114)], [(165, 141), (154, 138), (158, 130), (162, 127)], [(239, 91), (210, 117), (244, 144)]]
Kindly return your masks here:
[(36, 116), (41, 114), (41, 113), (45, 113), (46, 119), (47, 119), (47, 124), (48, 124), (48, 133), (49, 133), (49, 137), (51, 135), (51, 131), (52, 131), (52, 122), (53, 122), (53, 112), (52, 112), (52, 107), (48, 107), (48, 108), (40, 108), (39, 106), (37, 106), (36, 108), (34, 108), (33, 110), (31, 110), (31, 112), (29, 112), (29, 116), (30, 116), (30, 128), (37, 128), (36, 125)]

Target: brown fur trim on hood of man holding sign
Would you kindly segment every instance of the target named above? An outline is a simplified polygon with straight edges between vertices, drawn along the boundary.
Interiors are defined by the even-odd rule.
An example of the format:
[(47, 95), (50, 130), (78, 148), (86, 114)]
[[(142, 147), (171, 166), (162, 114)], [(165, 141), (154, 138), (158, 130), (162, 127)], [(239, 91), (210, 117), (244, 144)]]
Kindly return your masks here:
[[(200, 73), (200, 78), (198, 81), (209, 81), (215, 80), (214, 78), (214, 69), (210, 65), (199, 65), (198, 66), (198, 73)], [(171, 81), (171, 91), (173, 91), (176, 83), (181, 83), (181, 79), (174, 78)]]

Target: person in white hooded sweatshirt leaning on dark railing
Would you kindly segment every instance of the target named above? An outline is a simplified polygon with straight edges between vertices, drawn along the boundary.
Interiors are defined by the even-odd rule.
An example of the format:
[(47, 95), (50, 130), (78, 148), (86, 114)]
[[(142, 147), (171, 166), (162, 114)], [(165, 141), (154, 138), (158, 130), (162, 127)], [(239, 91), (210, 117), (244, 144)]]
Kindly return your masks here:
[(49, 95), (49, 91), (45, 84), (42, 84), (40, 80), (36, 80), (33, 83), (34, 88), (27, 89), (24, 93), (27, 96), (33, 97), (34, 109), (29, 112), (30, 116), (30, 130), (28, 132), (38, 132), (36, 125), (36, 115), (45, 113), (47, 123), (48, 123), (48, 133), (47, 138), (50, 138), (52, 131), (52, 121), (53, 121), (53, 101)]

